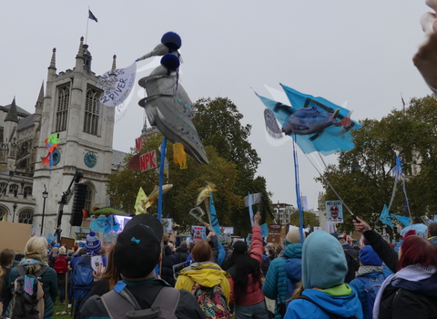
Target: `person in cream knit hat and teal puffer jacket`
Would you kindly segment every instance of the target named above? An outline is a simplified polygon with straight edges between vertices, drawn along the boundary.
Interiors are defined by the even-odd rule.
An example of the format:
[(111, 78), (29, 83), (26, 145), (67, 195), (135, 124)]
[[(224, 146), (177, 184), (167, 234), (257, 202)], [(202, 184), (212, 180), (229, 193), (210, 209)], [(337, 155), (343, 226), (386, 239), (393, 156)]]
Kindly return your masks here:
[[(262, 292), (266, 297), (276, 300), (275, 319), (283, 318), (287, 310), (287, 300), (290, 299), (294, 284), (301, 279), (302, 244), (299, 228), (293, 228), (285, 237), (283, 256), (270, 262)], [(289, 289), (286, 278), (290, 279), (292, 288)]]

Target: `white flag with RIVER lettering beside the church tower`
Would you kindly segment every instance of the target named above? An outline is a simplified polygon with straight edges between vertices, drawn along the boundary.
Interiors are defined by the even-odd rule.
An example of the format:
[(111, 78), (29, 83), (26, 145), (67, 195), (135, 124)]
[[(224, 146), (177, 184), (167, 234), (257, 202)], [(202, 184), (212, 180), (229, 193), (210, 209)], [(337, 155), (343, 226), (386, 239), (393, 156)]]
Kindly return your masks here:
[[(97, 83), (97, 87), (104, 90), (100, 103), (113, 108), (121, 105), (135, 86), (136, 74), (137, 63), (135, 62), (129, 67), (107, 71)], [(118, 113), (120, 112), (118, 110)]]

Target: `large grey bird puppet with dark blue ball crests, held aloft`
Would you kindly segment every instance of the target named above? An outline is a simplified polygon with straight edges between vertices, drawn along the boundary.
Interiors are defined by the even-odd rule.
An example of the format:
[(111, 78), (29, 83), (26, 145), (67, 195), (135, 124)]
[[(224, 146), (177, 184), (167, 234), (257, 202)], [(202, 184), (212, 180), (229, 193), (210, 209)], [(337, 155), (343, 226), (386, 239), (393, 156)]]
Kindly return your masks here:
[(172, 143), (180, 143), (198, 163), (208, 164), (207, 153), (192, 122), (194, 113), (191, 100), (178, 82), (180, 45), (180, 37), (168, 32), (152, 52), (137, 59), (164, 56), (160, 66), (138, 81), (147, 91), (147, 98), (142, 98), (138, 104), (146, 109), (150, 125), (158, 127)]

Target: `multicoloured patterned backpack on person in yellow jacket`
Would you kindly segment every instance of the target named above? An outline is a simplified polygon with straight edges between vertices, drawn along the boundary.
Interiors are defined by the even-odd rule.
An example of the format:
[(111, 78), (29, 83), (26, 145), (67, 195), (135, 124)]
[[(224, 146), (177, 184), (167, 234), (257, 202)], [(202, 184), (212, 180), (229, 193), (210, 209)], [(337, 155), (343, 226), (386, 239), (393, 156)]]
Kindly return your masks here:
[(207, 319), (230, 318), (228, 301), (219, 284), (214, 287), (204, 287), (195, 283), (191, 293), (196, 297)]

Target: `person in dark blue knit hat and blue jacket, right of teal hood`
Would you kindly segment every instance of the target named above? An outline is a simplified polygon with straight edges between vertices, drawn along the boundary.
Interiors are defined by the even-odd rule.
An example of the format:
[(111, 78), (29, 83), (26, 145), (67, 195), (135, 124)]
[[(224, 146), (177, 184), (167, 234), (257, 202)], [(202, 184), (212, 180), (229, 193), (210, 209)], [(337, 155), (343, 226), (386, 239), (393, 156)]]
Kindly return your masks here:
[[(371, 307), (369, 311), (368, 293), (365, 289), (366, 283), (371, 281), (381, 286), (381, 283), (385, 278), (391, 275), (392, 272), (388, 267), (383, 265), (381, 258), (373, 251), (371, 246), (364, 246), (361, 249), (360, 263), (361, 265), (357, 272), (357, 277), (351, 281), (350, 286), (358, 293), (364, 318), (371, 318), (373, 308)], [(375, 291), (374, 293), (377, 292)]]

